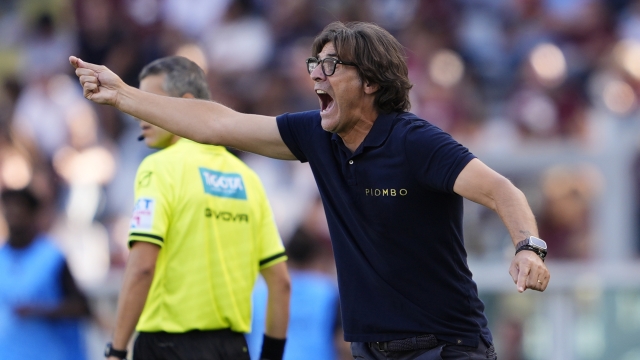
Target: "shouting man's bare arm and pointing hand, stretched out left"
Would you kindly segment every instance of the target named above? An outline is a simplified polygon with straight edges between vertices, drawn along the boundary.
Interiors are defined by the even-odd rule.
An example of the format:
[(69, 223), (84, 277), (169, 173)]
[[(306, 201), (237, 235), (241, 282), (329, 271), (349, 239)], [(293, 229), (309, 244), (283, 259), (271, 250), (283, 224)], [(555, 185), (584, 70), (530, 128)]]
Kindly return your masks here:
[(221, 104), (143, 92), (127, 84), (102, 65), (75, 56), (69, 62), (76, 69), (84, 97), (111, 105), (138, 119), (160, 126), (188, 139), (283, 160), (295, 157), (280, 137), (274, 117), (242, 114)]

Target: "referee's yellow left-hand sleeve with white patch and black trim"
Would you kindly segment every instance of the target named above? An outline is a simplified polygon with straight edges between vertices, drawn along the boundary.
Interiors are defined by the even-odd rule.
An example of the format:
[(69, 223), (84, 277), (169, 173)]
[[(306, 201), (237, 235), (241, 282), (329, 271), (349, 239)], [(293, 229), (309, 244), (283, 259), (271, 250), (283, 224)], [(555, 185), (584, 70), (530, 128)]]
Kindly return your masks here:
[(154, 161), (142, 161), (135, 179), (135, 205), (129, 225), (129, 246), (145, 241), (164, 246), (171, 218), (171, 186), (168, 176), (161, 176)]

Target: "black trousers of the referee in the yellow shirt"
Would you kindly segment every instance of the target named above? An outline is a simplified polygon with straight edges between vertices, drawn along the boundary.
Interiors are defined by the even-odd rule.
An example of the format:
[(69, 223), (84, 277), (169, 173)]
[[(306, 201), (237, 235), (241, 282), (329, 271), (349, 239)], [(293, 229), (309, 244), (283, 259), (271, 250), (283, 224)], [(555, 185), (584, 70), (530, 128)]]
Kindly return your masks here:
[(247, 341), (231, 330), (141, 332), (133, 360), (250, 360)]

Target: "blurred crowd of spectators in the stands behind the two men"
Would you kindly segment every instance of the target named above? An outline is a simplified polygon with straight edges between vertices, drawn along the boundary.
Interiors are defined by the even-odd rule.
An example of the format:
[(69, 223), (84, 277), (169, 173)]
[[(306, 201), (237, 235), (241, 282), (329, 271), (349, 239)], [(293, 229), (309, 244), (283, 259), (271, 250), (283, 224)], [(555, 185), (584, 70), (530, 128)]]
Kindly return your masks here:
[[(150, 150), (136, 141), (135, 119), (82, 97), (69, 55), (132, 86), (146, 63), (183, 55), (205, 69), (215, 101), (278, 115), (318, 108), (304, 61), (313, 36), (335, 20), (375, 22), (396, 36), (412, 112), (477, 154), (588, 153), (615, 143), (607, 121), (637, 128), (638, 0), (2, 0), (0, 189), (32, 189), (46, 209), (34, 226), (57, 239), (81, 287), (100, 286), (125, 263), (133, 178)], [(637, 223), (639, 148), (628, 169)], [(321, 272), (331, 276), (308, 167), (236, 154), (261, 176), (285, 244), (310, 234), (327, 249)], [(592, 257), (602, 170), (554, 164), (524, 185), (549, 258)], [(470, 256), (503, 258), (510, 240), (488, 216), (469, 216)]]

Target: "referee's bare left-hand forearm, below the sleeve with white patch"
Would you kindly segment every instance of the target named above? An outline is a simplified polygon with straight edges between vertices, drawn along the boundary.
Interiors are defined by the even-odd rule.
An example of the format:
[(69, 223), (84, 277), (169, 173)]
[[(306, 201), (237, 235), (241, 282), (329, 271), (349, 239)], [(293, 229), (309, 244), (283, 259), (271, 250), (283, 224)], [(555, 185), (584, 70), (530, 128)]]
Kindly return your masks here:
[(118, 296), (118, 311), (113, 332), (113, 348), (125, 350), (142, 314), (158, 259), (158, 245), (134, 241)]

